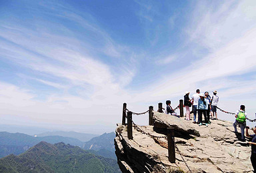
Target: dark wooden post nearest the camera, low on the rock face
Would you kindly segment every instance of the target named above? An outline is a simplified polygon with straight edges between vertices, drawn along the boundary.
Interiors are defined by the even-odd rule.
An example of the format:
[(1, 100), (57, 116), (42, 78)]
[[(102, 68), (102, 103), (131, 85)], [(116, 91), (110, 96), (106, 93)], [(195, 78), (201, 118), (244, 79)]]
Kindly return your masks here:
[(169, 162), (175, 163), (175, 142), (174, 142), (173, 128), (167, 128), (167, 139), (168, 139), (168, 159), (169, 159)]

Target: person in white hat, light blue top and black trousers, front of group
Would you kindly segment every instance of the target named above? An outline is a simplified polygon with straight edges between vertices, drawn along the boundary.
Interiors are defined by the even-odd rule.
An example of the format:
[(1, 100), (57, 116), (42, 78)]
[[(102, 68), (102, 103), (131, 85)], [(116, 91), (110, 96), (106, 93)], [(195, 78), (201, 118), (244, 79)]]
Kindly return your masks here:
[(197, 110), (198, 110), (198, 122), (199, 126), (202, 125), (202, 114), (205, 116), (205, 126), (208, 126), (208, 120), (207, 120), (207, 115), (206, 115), (206, 110), (208, 109), (208, 103), (205, 101), (205, 96), (204, 94), (199, 94), (200, 99), (198, 100), (197, 104)]

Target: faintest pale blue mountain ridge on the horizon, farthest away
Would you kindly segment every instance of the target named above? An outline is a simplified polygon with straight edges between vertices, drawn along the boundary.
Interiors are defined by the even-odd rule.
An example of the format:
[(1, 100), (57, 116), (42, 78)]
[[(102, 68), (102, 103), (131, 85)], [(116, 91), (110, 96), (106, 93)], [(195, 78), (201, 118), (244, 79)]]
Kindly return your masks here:
[(55, 132), (43, 132), (41, 134), (37, 134), (37, 136), (64, 136), (69, 138), (77, 138), (83, 142), (87, 142), (96, 136), (97, 134), (88, 134), (88, 133), (79, 133), (79, 132), (64, 132), (64, 131), (55, 131)]

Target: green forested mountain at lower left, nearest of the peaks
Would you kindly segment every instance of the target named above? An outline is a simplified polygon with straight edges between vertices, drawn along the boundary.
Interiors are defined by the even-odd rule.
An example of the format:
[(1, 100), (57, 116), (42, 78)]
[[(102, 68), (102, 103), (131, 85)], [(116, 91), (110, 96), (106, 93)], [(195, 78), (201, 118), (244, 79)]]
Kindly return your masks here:
[(117, 161), (63, 142), (40, 142), (27, 152), (0, 159), (0, 172), (121, 172)]

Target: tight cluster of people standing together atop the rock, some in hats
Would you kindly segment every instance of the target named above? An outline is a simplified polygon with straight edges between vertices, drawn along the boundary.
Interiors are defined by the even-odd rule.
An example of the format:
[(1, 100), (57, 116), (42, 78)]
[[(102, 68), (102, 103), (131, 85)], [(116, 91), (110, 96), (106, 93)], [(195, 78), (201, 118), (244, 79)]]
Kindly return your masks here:
[[(205, 125), (211, 124), (210, 121), (210, 113), (211, 118), (217, 118), (217, 104), (219, 102), (219, 96), (217, 96), (217, 91), (213, 91), (213, 96), (209, 95), (209, 92), (205, 92), (205, 94), (201, 93), (200, 90), (197, 89), (196, 93), (193, 94), (192, 98), (189, 98), (190, 92), (185, 92), (184, 96), (184, 106), (186, 108), (186, 120), (191, 120), (190, 118), (190, 107), (192, 106), (192, 112), (194, 114), (193, 123), (198, 123), (199, 126), (203, 124), (203, 117), (205, 118)], [(198, 113), (198, 120), (196, 122)]]

